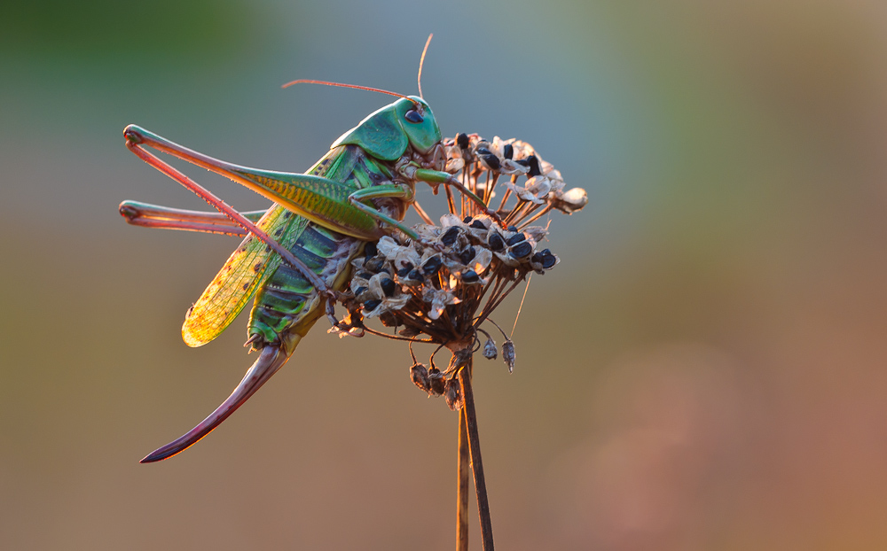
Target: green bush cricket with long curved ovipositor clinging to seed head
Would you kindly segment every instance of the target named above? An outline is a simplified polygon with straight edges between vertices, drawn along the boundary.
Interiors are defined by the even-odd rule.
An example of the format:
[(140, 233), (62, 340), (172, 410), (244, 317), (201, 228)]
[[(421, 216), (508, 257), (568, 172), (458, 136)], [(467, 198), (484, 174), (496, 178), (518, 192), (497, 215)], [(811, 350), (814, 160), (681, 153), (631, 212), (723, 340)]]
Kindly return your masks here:
[[(370, 89), (325, 81), (289, 84), (296, 82)], [(345, 132), (304, 174), (241, 167), (134, 125), (124, 129), (130, 151), (219, 212), (200, 213), (124, 201), (120, 212), (127, 221), (153, 228), (244, 236), (185, 315), (184, 342), (189, 346), (207, 344), (255, 296), (247, 345), (259, 353), (231, 395), (213, 413), (141, 462), (167, 459), (213, 431), (287, 362), (296, 345), (324, 314), (333, 325), (331, 331), (347, 330), (335, 319), (334, 304), (349, 287), (351, 260), (363, 253), (365, 244), (395, 231), (419, 238), (402, 222), (411, 205), (428, 221), (414, 201), (418, 182), (427, 182), (435, 189), (440, 184), (454, 187), (482, 212), (498, 220), (483, 199), (443, 171), (446, 155), (441, 131), (431, 108), (421, 97), (421, 86), (419, 97), (370, 90), (399, 98)], [(274, 205), (264, 212), (239, 213), (146, 147), (227, 176), (270, 198)], [(447, 193), (449, 196), (449, 187)]]

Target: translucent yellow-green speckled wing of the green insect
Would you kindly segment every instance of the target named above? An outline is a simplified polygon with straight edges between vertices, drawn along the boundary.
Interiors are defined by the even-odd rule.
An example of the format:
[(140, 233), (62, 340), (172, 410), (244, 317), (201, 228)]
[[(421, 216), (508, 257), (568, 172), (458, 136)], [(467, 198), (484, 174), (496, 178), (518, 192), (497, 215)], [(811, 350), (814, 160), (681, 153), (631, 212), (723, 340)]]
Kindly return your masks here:
[[(256, 224), (259, 229), (290, 248), (308, 221), (272, 206)], [(261, 239), (249, 235), (232, 252), (200, 299), (185, 314), (182, 338), (186, 345), (201, 346), (218, 337), (247, 305), (255, 290), (280, 265), (278, 254)]]

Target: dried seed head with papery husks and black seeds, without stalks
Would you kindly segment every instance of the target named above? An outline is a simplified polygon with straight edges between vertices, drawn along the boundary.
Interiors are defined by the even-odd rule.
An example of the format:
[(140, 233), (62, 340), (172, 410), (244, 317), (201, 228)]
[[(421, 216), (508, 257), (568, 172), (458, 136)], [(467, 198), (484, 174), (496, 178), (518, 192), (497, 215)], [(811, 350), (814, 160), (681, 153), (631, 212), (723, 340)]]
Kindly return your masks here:
[[(411, 378), (457, 409), (462, 403), (455, 378), (459, 369), (470, 366), (479, 349), (485, 358), (498, 356), (481, 325), (530, 274), (545, 274), (560, 262), (542, 245), (548, 224), (534, 222), (547, 213), (574, 213), (588, 197), (581, 188), (565, 191), (561, 173), (526, 142), (459, 134), (445, 140), (444, 148), (446, 171), (490, 209), (498, 203), (498, 220), (482, 213), (475, 199), (449, 187), (449, 213), (439, 224), (418, 206), (426, 222), (413, 227), (419, 239), (400, 233), (382, 237), (352, 260), (354, 275), (343, 300), (349, 315), (340, 329), (449, 348), (453, 356), (447, 369), (437, 369), (432, 354), (431, 369), (413, 359)], [(365, 318), (374, 317), (396, 335), (366, 328)], [(485, 336), (483, 345), (478, 332)], [(511, 371), (514, 342), (503, 337), (502, 358)]]

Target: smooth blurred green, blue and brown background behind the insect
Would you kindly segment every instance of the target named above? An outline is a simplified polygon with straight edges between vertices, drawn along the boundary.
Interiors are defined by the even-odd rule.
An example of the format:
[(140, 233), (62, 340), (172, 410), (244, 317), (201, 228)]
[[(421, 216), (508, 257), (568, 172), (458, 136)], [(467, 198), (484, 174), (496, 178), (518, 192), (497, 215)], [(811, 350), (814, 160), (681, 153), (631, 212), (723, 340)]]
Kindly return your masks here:
[(453, 547), (457, 415), (398, 343), (318, 324), (220, 430), (138, 464), (254, 356), (246, 317), (179, 334), (238, 240), (117, 213), (203, 207), (126, 124), (301, 171), (389, 98), (280, 85), (415, 93), (431, 32), (444, 135), (525, 139), (591, 199), (553, 221), (514, 374), (475, 370), (498, 547), (887, 547), (887, 4), (641, 4), (4, 4), (0, 547)]

